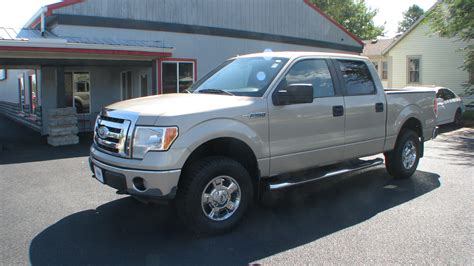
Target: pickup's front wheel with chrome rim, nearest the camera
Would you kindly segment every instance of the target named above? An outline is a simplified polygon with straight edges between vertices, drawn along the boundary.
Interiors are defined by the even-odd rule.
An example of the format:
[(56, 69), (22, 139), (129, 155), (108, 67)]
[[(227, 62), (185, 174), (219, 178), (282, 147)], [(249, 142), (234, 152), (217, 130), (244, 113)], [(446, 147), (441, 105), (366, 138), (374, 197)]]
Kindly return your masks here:
[(207, 157), (184, 170), (175, 207), (191, 231), (220, 234), (238, 224), (253, 195), (250, 175), (240, 163), (227, 157)]

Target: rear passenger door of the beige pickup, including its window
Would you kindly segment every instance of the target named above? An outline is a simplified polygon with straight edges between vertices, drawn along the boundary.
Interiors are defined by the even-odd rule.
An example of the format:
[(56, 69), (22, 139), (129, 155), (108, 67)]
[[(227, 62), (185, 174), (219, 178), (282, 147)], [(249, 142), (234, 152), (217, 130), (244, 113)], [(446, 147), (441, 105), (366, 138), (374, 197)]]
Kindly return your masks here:
[(345, 103), (344, 158), (352, 159), (382, 152), (387, 110), (385, 94), (382, 90), (377, 90), (365, 61), (335, 60), (334, 63), (343, 87)]

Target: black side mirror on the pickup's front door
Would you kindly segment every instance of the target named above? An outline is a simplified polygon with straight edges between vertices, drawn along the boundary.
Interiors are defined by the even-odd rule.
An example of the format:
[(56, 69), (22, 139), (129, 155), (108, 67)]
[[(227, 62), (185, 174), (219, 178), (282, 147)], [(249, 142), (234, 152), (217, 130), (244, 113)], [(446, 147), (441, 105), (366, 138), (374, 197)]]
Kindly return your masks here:
[(313, 85), (311, 84), (291, 84), (284, 89), (278, 89), (273, 94), (273, 104), (290, 105), (300, 103), (312, 103), (314, 99)]

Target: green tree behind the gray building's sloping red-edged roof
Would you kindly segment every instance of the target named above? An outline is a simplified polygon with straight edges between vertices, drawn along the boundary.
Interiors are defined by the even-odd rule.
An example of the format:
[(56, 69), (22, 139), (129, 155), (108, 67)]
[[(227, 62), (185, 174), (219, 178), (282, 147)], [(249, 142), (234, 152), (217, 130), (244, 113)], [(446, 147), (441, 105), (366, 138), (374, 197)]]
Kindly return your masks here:
[(385, 25), (376, 26), (377, 9), (365, 5), (364, 0), (311, 0), (322, 11), (363, 40), (383, 35)]

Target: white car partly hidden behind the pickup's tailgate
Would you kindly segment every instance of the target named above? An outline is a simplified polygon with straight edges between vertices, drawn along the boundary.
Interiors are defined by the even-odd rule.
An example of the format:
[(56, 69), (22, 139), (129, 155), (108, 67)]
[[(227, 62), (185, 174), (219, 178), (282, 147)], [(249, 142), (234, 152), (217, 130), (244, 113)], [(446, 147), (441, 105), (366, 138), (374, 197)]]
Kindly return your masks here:
[(465, 111), (461, 97), (452, 90), (436, 87), (436, 98), (438, 99), (438, 125), (453, 123), (456, 126), (462, 124), (462, 114)]

